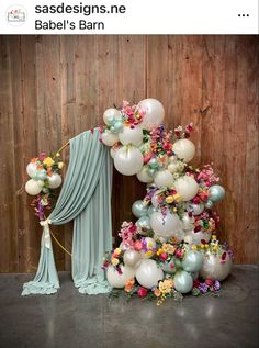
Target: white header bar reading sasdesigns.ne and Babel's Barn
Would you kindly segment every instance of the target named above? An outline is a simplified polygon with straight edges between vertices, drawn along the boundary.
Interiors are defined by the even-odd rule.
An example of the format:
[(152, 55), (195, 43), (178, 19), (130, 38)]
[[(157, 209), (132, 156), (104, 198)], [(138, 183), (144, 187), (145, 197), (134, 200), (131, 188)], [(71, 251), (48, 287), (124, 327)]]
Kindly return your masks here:
[(0, 34), (258, 33), (258, 0), (0, 2)]

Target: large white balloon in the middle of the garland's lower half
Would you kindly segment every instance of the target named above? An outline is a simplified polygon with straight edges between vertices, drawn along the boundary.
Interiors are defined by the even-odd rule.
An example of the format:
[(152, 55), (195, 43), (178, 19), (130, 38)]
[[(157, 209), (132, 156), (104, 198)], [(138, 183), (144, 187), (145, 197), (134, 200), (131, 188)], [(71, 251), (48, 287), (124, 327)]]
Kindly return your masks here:
[(150, 225), (156, 235), (171, 237), (173, 233), (181, 228), (180, 218), (177, 214), (155, 212), (150, 217)]

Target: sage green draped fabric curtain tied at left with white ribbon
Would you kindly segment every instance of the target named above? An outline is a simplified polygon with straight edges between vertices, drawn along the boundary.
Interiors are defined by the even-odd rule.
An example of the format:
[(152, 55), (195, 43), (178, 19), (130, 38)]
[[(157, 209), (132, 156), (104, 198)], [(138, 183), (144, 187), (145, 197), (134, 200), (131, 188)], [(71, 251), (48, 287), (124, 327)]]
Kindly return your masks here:
[(112, 159), (99, 142), (99, 130), (83, 132), (70, 141), (70, 161), (57, 204), (42, 222), (43, 236), (38, 269), (33, 281), (23, 285), (22, 295), (49, 294), (59, 288), (53, 256), (49, 224), (74, 220), (72, 279), (79, 292), (105, 293), (111, 290), (101, 269), (105, 251), (112, 248), (111, 187)]

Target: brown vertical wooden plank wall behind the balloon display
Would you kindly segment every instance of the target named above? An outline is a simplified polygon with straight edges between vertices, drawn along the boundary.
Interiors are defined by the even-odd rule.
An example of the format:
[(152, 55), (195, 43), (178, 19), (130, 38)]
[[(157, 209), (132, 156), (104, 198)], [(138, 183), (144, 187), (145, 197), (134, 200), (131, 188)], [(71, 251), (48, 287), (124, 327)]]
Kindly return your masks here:
[[(1, 36), (0, 271), (36, 270), (41, 228), (21, 193), (29, 160), (146, 97), (164, 103), (167, 127), (194, 123), (194, 162), (213, 161), (227, 190), (222, 238), (235, 262), (258, 262), (258, 56), (257, 36)], [(114, 231), (144, 192), (114, 172)], [(54, 232), (70, 249), (71, 225)]]

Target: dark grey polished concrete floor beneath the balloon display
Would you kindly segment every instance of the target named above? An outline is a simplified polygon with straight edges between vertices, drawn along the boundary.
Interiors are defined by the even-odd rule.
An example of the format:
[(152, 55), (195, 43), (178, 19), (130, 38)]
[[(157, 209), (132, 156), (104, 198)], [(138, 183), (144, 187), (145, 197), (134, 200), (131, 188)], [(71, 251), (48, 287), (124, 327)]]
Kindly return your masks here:
[(221, 298), (155, 302), (82, 295), (67, 272), (55, 295), (21, 298), (30, 274), (0, 274), (0, 347), (257, 348), (258, 266), (235, 266)]

